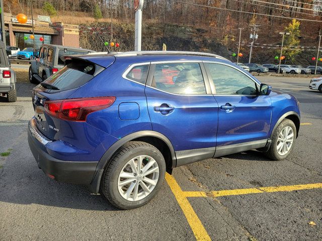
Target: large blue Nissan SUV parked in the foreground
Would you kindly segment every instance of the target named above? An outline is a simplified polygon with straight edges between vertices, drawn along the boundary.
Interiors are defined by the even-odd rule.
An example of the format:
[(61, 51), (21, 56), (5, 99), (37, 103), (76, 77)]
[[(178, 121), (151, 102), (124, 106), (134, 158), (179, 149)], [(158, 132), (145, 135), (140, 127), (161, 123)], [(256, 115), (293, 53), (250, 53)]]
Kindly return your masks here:
[(120, 209), (144, 205), (165, 172), (257, 149), (291, 153), (299, 102), (213, 54), (95, 53), (32, 93), (28, 142), (50, 178), (87, 184)]

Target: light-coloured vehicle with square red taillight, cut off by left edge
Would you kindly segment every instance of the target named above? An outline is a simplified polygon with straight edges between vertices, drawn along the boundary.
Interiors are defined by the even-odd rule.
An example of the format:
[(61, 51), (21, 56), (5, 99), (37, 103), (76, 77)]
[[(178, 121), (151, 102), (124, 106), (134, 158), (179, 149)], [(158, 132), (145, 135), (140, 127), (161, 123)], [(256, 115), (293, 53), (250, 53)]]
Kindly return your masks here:
[(10, 68), (6, 45), (0, 40), (0, 96), (6, 96), (8, 102), (17, 101), (16, 73)]

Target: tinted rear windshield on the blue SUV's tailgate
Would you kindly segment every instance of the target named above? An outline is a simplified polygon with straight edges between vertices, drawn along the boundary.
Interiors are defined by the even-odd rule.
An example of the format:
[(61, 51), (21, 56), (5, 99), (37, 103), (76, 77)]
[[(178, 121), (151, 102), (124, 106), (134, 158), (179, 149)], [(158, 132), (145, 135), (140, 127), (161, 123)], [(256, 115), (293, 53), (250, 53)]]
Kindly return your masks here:
[(59, 89), (57, 91), (77, 88), (94, 78), (96, 68), (94, 63), (73, 60), (45, 82), (57, 87)]

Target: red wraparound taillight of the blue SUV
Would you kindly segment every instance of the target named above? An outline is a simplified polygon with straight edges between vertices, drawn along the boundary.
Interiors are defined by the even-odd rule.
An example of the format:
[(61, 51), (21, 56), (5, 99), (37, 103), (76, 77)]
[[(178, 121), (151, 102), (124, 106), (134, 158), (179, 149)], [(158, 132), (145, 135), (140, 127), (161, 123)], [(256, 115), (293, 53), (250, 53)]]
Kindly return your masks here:
[(85, 122), (89, 113), (105, 109), (115, 101), (114, 96), (62, 99), (45, 101), (45, 110), (48, 114), (67, 121)]

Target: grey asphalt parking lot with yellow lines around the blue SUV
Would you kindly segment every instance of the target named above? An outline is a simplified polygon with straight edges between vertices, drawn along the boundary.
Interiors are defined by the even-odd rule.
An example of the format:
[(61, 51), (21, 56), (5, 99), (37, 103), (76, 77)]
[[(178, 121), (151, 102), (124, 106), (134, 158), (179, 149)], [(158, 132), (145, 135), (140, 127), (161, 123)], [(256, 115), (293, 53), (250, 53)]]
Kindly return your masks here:
[(120, 211), (37, 168), (27, 74), (17, 74), (17, 102), (0, 97), (0, 240), (322, 239), (322, 94), (308, 89), (310, 78), (258, 77), (301, 102), (286, 160), (248, 151), (176, 168), (150, 203)]

